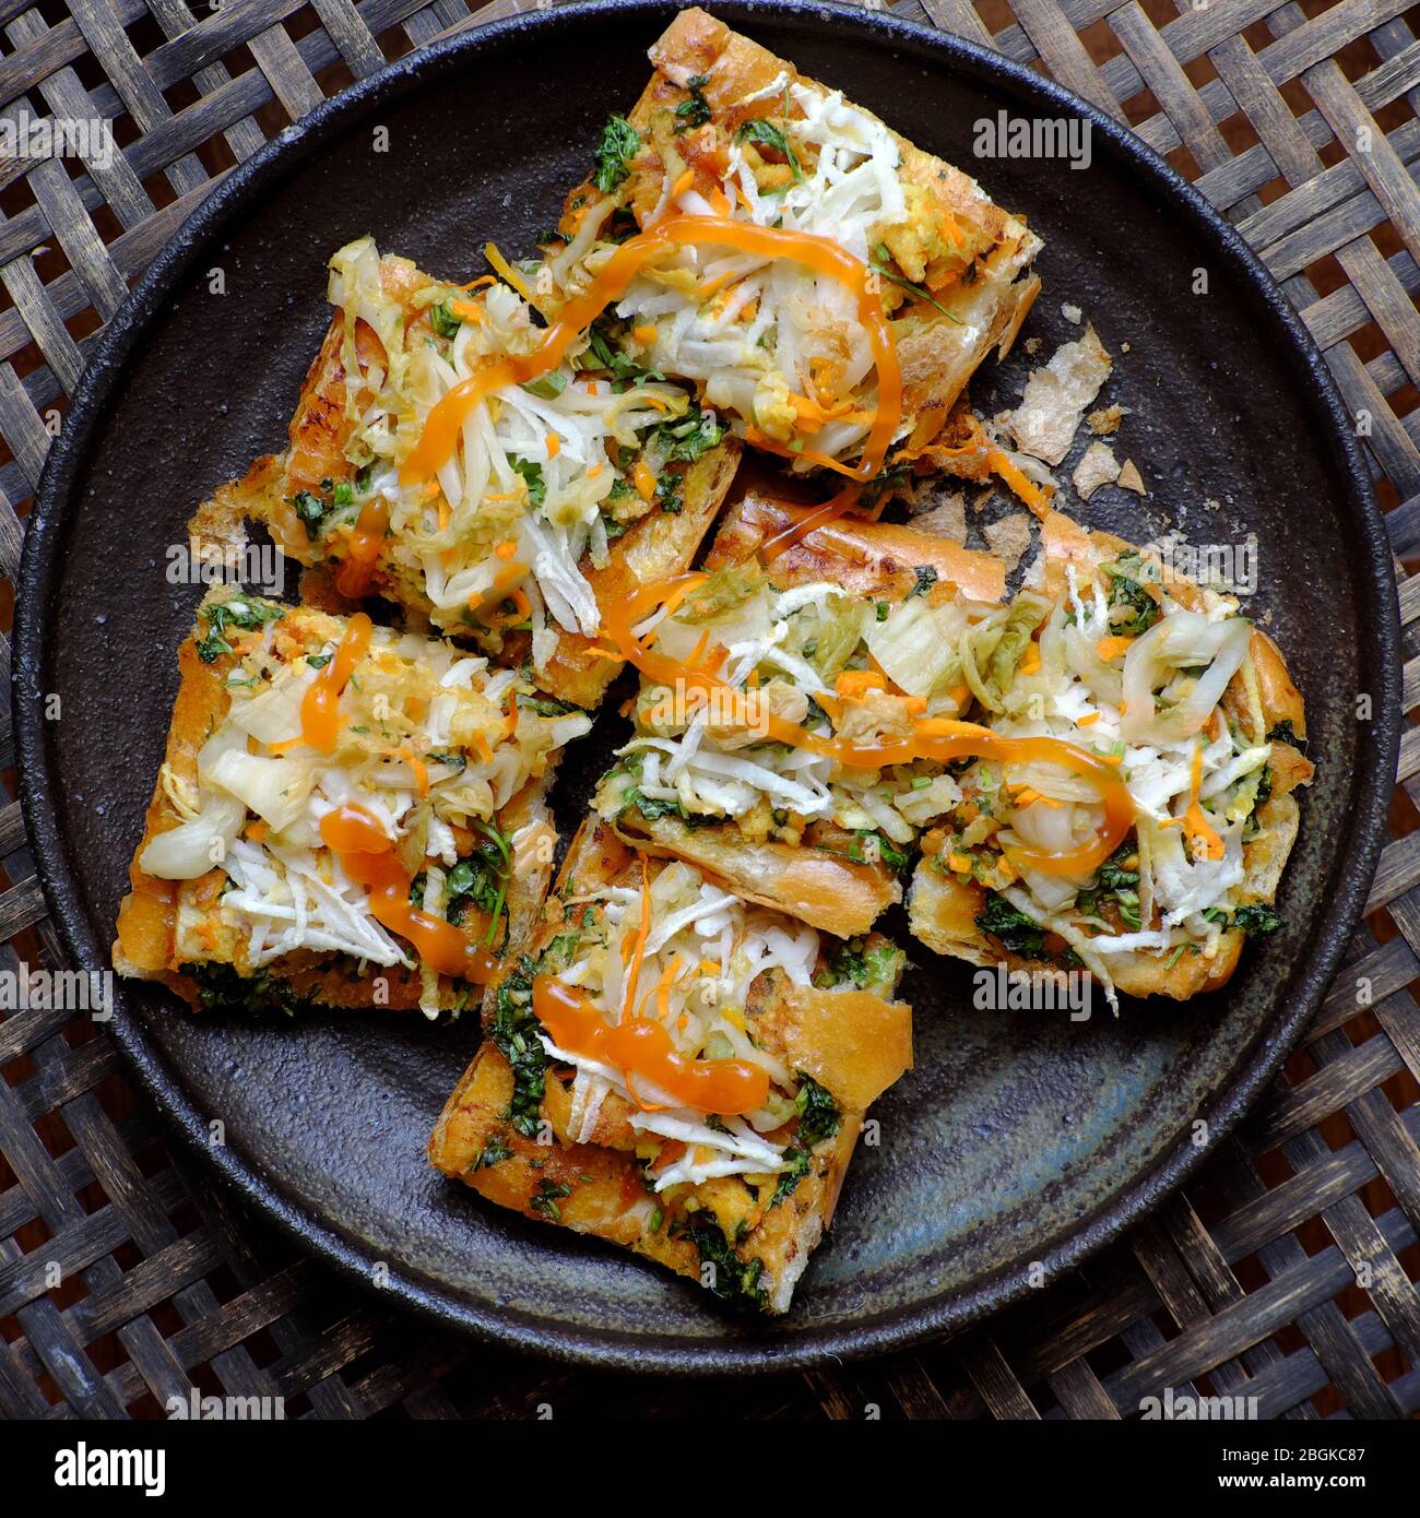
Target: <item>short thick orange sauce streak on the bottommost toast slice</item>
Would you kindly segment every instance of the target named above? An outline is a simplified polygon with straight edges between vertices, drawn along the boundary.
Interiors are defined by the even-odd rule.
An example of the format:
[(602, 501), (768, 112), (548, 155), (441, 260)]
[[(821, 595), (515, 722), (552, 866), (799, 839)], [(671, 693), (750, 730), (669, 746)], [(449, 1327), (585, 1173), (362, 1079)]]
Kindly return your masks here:
[[(617, 1066), (659, 1087), (682, 1107), (738, 1116), (768, 1099), (768, 1073), (746, 1060), (686, 1060), (655, 1017), (629, 1017), (611, 1026), (588, 997), (550, 975), (533, 981), (533, 1013), (554, 1044), (568, 1053)], [(638, 1105), (648, 1107), (636, 1098)]]

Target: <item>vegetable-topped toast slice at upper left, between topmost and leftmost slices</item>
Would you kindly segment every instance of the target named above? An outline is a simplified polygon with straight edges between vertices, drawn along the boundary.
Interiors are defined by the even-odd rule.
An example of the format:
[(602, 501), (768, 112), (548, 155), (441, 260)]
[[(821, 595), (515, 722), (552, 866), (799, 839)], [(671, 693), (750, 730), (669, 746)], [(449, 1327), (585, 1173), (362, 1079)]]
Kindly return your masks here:
[(541, 345), (522, 276), (453, 285), (369, 237), (330, 267), (334, 314), (287, 448), (229, 504), (346, 601), (386, 597), (595, 706), (618, 668), (591, 651), (601, 607), (689, 565), (738, 445), (683, 389), (624, 381), (582, 335), (548, 372), (497, 384), (450, 457), (412, 474), (440, 398)]

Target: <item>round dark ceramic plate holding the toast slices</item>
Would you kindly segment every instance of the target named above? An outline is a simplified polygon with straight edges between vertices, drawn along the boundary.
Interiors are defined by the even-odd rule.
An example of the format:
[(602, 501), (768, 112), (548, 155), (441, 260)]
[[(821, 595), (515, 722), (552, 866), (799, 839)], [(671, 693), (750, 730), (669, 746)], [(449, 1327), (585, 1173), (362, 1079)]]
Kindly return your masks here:
[[(1388, 556), (1344, 414), (1286, 302), (1200, 197), (1113, 123), (966, 44), (858, 9), (715, 9), (1028, 213), (1046, 238), (1028, 332), (1046, 352), (1074, 334), (1059, 314), (1069, 301), (1112, 351), (1130, 345), (1110, 393), (1133, 410), (1124, 451), (1154, 493), (1141, 505), (1101, 492), (1090, 518), (1136, 539), (1169, 522), (1195, 540), (1256, 533), (1254, 612), (1271, 616), (1306, 692), (1320, 773), (1282, 891), (1286, 926), (1220, 996), (1084, 1023), (978, 1013), (963, 967), (917, 950), (905, 988), (917, 1066), (878, 1108), (881, 1145), (860, 1149), (832, 1237), (772, 1325), (483, 1207), (427, 1167), (472, 1023), (199, 1022), (166, 994), (123, 990), (114, 1032), (149, 1090), (310, 1248), (366, 1278), (383, 1263), (398, 1298), (450, 1325), (671, 1371), (910, 1343), (1018, 1295), (1036, 1261), (1056, 1275), (1154, 1205), (1276, 1070), (1336, 965), (1376, 858), (1399, 710)], [(529, 249), (607, 111), (639, 93), (670, 14), (542, 12), (355, 85), (235, 172), (97, 342), (29, 528), (15, 676), (26, 818), (77, 964), (108, 962), (173, 648), (199, 595), (166, 581), (166, 550), (197, 499), (281, 439), (327, 322), (325, 258), (371, 231), (466, 278), (489, 235)], [(973, 123), (999, 111), (1089, 120), (1092, 165), (973, 164)], [(216, 267), (225, 294), (210, 293)], [(1194, 293), (1200, 269), (1207, 294)], [(989, 389), (980, 399), (992, 404)], [(1356, 692), (1371, 697), (1370, 723), (1356, 721)], [(49, 694), (58, 721), (46, 721)], [(588, 779), (603, 751), (574, 753), (566, 773)], [(585, 786), (559, 802), (571, 827)], [(226, 1148), (210, 1148), (211, 1119)]]

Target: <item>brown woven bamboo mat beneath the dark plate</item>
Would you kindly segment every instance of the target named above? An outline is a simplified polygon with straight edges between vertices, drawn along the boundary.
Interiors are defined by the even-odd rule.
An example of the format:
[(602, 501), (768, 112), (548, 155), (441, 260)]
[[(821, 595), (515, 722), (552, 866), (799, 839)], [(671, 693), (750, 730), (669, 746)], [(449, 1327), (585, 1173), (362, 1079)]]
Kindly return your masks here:
[[(287, 121), (533, 0), (0, 0), (0, 118), (103, 117), (91, 165), (0, 158), (0, 580), (94, 332), (182, 219)], [(1405, 0), (922, 0), (1054, 74), (1194, 178), (1326, 352), (1390, 510), (1420, 706), (1420, 9)], [(475, 11), (471, 15), (469, 11)], [(102, 155), (100, 155), (102, 156)], [(8, 642), (0, 642), (8, 666)], [(9, 724), (0, 730), (11, 765)], [(14, 795), (14, 774), (6, 780)], [(735, 1384), (762, 1418), (1119, 1418), (1147, 1395), (1264, 1418), (1420, 1409), (1420, 732), (1371, 914), (1300, 1052), (1197, 1183), (1124, 1245), (917, 1354)], [(58, 964), (18, 806), (0, 968)], [(1370, 1005), (1358, 1006), (1358, 987)], [(84, 1016), (0, 1022), (0, 1410), (155, 1416), (661, 1416), (717, 1387), (571, 1372), (431, 1333), (293, 1255), (173, 1152)], [(58, 1284), (56, 1284), (58, 1281)]]

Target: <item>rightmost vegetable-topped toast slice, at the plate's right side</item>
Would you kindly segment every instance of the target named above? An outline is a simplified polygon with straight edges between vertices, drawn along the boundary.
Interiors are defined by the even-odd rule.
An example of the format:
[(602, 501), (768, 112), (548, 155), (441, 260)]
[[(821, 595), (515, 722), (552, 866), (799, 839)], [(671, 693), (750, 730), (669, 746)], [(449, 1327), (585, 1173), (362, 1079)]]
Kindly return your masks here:
[(1312, 777), (1302, 697), (1232, 597), (1060, 513), (1042, 527), (1033, 642), (989, 683), (993, 733), (1100, 754), (1134, 818), (1084, 870), (1018, 868), (1078, 846), (1098, 797), (1051, 764), (978, 762), (923, 838), (910, 920), (937, 953), (1010, 968), (1086, 967), (1110, 999), (1186, 1000), (1227, 982), (1273, 902)]

